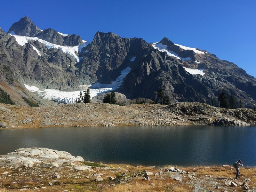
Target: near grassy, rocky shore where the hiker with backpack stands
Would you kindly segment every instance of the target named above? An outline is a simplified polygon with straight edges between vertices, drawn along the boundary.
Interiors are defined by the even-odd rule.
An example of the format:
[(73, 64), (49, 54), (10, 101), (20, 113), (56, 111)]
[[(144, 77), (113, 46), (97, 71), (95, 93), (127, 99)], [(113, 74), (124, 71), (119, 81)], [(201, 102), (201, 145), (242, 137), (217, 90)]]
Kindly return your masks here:
[[(131, 166), (86, 162), (47, 148), (0, 156), (0, 191), (256, 191), (256, 168)], [(230, 177), (228, 177), (228, 175)]]

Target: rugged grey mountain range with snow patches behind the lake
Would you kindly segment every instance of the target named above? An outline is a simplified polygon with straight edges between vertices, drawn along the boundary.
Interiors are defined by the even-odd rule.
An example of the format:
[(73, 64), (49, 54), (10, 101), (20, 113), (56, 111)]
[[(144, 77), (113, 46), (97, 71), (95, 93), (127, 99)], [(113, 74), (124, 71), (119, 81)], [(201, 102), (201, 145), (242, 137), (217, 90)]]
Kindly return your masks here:
[[(54, 29), (41, 30), (28, 17), (0, 28), (0, 87), (20, 105), (30, 91), (44, 99), (74, 102), (77, 92), (91, 96), (115, 90), (128, 99), (155, 101), (163, 89), (171, 102), (218, 106), (220, 92), (237, 104), (256, 107), (256, 79), (242, 68), (198, 48), (97, 32), (92, 41)], [(39, 102), (39, 100), (36, 100)]]

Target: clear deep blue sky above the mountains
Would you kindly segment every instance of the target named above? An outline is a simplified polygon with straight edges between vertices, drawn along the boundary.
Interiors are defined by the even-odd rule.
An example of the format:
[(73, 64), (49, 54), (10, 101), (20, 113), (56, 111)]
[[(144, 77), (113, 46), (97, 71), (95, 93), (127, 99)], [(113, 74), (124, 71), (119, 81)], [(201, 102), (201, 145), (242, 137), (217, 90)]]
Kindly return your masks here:
[(164, 36), (234, 62), (256, 77), (255, 0), (12, 0), (0, 5), (7, 32), (28, 16), (39, 28), (93, 39), (97, 31), (139, 37), (148, 43)]

